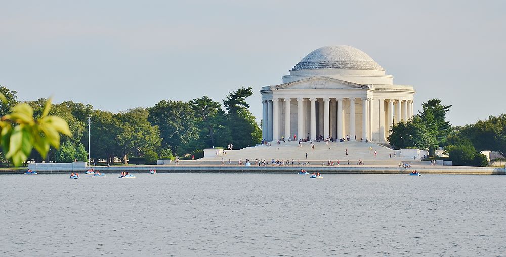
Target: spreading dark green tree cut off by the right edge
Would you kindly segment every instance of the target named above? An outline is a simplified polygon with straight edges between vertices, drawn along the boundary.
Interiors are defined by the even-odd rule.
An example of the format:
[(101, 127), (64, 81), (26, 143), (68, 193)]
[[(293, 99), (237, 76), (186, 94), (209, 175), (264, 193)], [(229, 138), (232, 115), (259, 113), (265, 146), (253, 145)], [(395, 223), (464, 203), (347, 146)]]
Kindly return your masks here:
[(479, 151), (497, 151), (506, 157), (506, 113), (465, 126), (460, 135), (468, 138)]

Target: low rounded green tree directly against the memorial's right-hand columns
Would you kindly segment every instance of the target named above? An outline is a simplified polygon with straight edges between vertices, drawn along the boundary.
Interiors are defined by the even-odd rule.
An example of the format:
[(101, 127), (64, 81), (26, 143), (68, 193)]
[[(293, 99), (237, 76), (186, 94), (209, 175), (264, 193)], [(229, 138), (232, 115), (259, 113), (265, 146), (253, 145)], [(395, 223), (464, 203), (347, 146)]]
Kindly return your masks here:
[(435, 143), (435, 138), (425, 127), (420, 117), (413, 117), (408, 122), (399, 122), (393, 125), (389, 132), (388, 141), (396, 149), (417, 147), (427, 149)]

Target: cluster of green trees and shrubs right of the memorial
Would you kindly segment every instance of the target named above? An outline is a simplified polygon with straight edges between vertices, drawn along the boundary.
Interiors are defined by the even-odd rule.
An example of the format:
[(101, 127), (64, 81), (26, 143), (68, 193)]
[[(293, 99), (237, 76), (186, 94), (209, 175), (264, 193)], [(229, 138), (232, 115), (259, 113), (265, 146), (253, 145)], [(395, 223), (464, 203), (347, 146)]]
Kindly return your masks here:
[(486, 166), (487, 158), (481, 154), (484, 150), (506, 156), (506, 114), (458, 127), (446, 120), (450, 108), (440, 99), (424, 102), (422, 110), (412, 119), (390, 128), (390, 145), (396, 149), (426, 149), (433, 158), (435, 150), (443, 147), (453, 165), (463, 166)]

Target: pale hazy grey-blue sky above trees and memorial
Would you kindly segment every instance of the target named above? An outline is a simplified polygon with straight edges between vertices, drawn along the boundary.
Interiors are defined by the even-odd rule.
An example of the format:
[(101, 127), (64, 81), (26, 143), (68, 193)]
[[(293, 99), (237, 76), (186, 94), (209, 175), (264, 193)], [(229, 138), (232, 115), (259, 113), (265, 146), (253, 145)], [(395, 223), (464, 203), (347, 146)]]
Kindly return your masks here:
[(506, 1), (348, 2), (0, 0), (0, 85), (113, 112), (252, 86), (261, 118), (262, 86), (343, 44), (413, 85), (415, 110), (441, 98), (453, 125), (506, 112)]

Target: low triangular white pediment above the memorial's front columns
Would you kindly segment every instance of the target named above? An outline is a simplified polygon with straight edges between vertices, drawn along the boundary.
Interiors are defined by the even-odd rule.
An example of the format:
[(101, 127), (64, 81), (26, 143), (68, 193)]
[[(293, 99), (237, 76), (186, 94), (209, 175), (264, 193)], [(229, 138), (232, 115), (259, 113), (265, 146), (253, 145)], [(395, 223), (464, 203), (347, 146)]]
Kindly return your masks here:
[(271, 89), (367, 89), (368, 85), (357, 84), (340, 79), (314, 76), (289, 83), (275, 85)]

